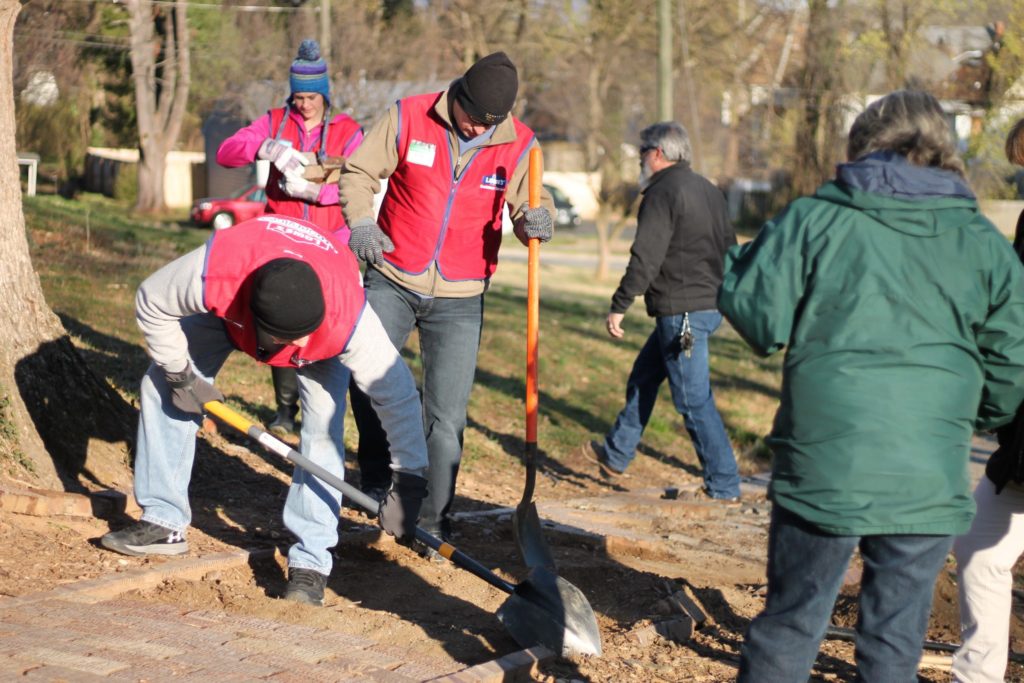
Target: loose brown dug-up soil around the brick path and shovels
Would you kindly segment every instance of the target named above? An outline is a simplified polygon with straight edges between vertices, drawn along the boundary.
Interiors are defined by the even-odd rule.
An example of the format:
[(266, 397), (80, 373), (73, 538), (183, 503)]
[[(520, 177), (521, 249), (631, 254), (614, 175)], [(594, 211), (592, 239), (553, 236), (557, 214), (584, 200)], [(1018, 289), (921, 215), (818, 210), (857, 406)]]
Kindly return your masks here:
[[(242, 438), (201, 433), (191, 486), (190, 556), (239, 548), (270, 552), (198, 581), (171, 579), (128, 597), (337, 630), (401, 646), (411, 657), (437, 661), (449, 671), (520, 649), (495, 615), (504, 593), (396, 545), (366, 516), (347, 508), (325, 606), (280, 599), (287, 574), (283, 553), (290, 544), (280, 511), (289, 471), (287, 463), (251, 449)], [(615, 543), (572, 524), (546, 530), (559, 574), (583, 591), (597, 614), (604, 654), (549, 660), (536, 679), (733, 680), (743, 631), (764, 604), (769, 505), (763, 488), (749, 484), (739, 508), (688, 501), (686, 492), (697, 485), (695, 470), (643, 456), (628, 477), (613, 484), (582, 454), (564, 456), (557, 464), (546, 461), (543, 471), (537, 494), (542, 517), (545, 509), (557, 509), (563, 518), (568, 513), (589, 516), (595, 524), (616, 530), (611, 535)], [(357, 481), (357, 472), (351, 471), (348, 478)], [(487, 511), (514, 507), (520, 486), (518, 467), (475, 467), (462, 476), (456, 503), (460, 518), (455, 545), (511, 583), (525, 577), (511, 521), (507, 513)], [(682, 490), (683, 500), (656, 496), (670, 486)], [(0, 544), (17, 552), (0, 557), (0, 595), (45, 591), (175, 561), (123, 557), (98, 547), (99, 536), (128, 521), (123, 515), (91, 519), (4, 514)], [(930, 639), (954, 642), (958, 637), (954, 577), (950, 565), (939, 578)], [(855, 624), (858, 578), (855, 561), (837, 602), (837, 626)], [(679, 590), (687, 591), (709, 618), (688, 641), (674, 643), (652, 636), (650, 627), (672, 618), (665, 598)], [(1019, 617), (1017, 610), (1017, 648), (1024, 645)], [(853, 680), (852, 663), (851, 643), (826, 640), (812, 680)], [(923, 681), (946, 679), (942, 671), (922, 670)], [(1008, 680), (1024, 681), (1024, 669), (1014, 665)]]

